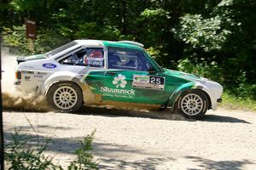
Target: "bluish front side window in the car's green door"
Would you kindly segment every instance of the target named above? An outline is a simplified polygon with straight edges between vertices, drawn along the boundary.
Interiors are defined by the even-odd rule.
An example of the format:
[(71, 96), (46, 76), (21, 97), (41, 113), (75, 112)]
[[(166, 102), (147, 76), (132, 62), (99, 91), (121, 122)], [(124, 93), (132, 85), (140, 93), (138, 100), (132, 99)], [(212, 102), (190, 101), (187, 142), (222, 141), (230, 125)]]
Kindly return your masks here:
[(108, 69), (148, 71), (152, 65), (143, 54), (135, 49), (108, 48)]

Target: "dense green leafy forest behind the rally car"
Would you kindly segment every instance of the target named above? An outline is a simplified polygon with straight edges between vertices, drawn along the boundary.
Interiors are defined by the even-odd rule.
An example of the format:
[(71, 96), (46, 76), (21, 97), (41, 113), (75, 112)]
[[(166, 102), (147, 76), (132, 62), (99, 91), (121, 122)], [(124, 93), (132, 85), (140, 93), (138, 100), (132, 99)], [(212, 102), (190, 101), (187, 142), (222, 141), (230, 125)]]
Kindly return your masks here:
[(0, 0), (0, 31), (24, 55), (74, 39), (141, 42), (161, 66), (221, 83), (224, 105), (256, 111), (255, 0)]

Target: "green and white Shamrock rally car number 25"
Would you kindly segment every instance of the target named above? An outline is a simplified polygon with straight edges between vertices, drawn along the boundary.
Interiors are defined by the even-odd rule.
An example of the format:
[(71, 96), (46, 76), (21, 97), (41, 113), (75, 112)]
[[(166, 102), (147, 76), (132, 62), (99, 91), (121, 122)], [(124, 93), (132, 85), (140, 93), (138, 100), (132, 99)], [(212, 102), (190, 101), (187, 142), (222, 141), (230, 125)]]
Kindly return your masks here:
[(44, 94), (65, 112), (84, 104), (123, 105), (167, 107), (200, 118), (216, 109), (223, 92), (218, 82), (161, 68), (139, 42), (75, 40), (17, 61), (16, 88)]

